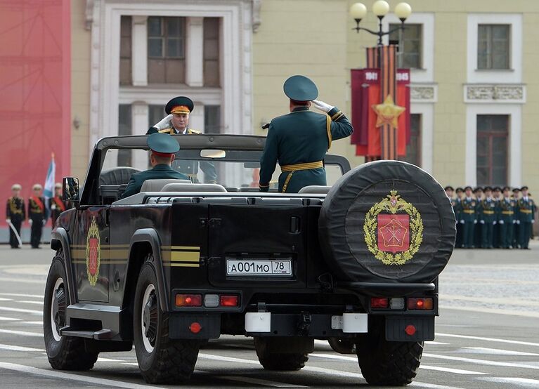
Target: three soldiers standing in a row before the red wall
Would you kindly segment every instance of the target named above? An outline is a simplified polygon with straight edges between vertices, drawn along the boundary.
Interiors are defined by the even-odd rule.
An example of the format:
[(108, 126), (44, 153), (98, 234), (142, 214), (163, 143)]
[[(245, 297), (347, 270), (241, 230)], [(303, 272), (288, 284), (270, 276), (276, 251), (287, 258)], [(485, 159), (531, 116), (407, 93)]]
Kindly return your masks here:
[[(6, 204), (6, 223), (9, 225), (9, 244), (11, 248), (18, 249), (20, 246), (20, 227), (25, 220), (30, 224), (30, 245), (32, 249), (39, 249), (41, 242), (41, 233), (43, 226), (49, 215), (45, 206), (45, 199), (42, 195), (43, 187), (35, 184), (32, 187), (32, 196), (28, 198), (27, 208), (25, 207), (25, 199), (20, 196), (22, 187), (19, 184), (14, 184), (11, 187), (11, 197), (8, 198)], [(56, 183), (54, 185), (54, 197), (48, 199), (48, 209), (50, 209), (50, 217), (53, 225), (60, 213), (71, 208), (70, 204), (62, 199), (62, 185)]]

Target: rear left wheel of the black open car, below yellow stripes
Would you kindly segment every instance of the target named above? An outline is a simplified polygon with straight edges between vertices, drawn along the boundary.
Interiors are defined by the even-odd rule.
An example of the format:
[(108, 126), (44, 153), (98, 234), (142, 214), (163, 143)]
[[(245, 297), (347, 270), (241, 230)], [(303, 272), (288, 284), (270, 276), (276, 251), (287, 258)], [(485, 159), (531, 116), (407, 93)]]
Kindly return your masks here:
[[(136, 359), (147, 383), (181, 383), (193, 374), (200, 342), (169, 338), (169, 314), (160, 308), (152, 260), (149, 256), (142, 265), (136, 284), (133, 317)], [(143, 306), (149, 307), (146, 319), (142, 317)]]

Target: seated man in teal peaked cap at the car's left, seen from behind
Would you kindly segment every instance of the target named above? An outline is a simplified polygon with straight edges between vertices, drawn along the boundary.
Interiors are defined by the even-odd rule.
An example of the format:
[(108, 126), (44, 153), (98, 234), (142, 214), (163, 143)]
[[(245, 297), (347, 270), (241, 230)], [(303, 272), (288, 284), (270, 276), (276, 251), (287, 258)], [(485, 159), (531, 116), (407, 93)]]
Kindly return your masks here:
[(186, 174), (175, 171), (170, 167), (172, 161), (174, 161), (174, 153), (180, 150), (180, 145), (178, 145), (176, 139), (167, 133), (152, 133), (152, 135), (148, 136), (148, 147), (152, 150), (150, 154), (152, 169), (134, 173), (122, 197), (129, 197), (140, 192), (145, 180), (158, 180), (161, 178), (189, 179)]

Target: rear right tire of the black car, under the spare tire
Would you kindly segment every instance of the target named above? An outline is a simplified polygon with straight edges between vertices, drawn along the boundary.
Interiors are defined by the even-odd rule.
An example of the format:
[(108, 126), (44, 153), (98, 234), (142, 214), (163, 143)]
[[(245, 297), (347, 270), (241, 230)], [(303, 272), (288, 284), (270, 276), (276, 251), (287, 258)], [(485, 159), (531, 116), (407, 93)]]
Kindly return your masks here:
[(370, 385), (403, 386), (412, 382), (420, 367), (423, 342), (386, 341), (384, 321), (356, 343), (361, 374)]

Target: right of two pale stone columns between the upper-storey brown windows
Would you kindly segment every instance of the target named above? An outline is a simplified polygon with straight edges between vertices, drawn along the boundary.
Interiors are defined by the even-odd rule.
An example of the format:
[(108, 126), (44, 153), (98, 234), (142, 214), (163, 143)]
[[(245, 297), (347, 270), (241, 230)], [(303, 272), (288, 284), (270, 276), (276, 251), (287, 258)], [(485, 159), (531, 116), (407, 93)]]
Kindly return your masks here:
[(204, 18), (187, 18), (186, 84), (204, 85)]

